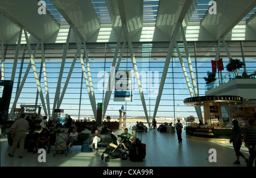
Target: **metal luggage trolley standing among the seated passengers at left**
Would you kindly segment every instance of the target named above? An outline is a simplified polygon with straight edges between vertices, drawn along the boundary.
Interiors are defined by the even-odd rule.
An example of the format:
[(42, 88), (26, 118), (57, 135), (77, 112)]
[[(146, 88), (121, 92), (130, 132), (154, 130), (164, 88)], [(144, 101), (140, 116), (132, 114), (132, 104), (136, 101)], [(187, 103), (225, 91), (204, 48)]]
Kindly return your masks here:
[(58, 153), (65, 154), (65, 156), (67, 156), (67, 141), (68, 133), (56, 134), (56, 142), (53, 156), (55, 156)]

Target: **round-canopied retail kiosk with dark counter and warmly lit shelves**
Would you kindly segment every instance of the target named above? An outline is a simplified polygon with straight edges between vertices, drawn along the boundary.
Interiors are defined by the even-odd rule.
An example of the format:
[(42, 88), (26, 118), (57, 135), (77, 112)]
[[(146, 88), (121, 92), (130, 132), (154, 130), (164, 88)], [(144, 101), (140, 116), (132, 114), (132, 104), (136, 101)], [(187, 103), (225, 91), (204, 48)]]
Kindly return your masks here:
[(232, 127), (227, 119), (222, 118), (222, 105), (240, 105), (240, 96), (202, 96), (184, 100), (185, 105), (204, 107), (204, 125), (186, 127), (186, 135), (195, 139), (229, 139)]

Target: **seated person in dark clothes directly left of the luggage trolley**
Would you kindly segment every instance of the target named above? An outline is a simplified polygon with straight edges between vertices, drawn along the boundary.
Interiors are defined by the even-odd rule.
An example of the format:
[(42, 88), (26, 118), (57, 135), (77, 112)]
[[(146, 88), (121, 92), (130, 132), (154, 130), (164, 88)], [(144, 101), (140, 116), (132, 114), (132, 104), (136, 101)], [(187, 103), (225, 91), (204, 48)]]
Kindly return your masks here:
[(38, 153), (38, 146), (42, 147), (47, 145), (48, 150), (47, 153), (49, 153), (49, 149), (50, 149), (50, 133), (47, 129), (43, 129), (41, 131), (41, 133), (38, 135), (38, 139), (36, 140), (36, 144), (35, 144), (35, 150), (33, 151), (33, 154)]

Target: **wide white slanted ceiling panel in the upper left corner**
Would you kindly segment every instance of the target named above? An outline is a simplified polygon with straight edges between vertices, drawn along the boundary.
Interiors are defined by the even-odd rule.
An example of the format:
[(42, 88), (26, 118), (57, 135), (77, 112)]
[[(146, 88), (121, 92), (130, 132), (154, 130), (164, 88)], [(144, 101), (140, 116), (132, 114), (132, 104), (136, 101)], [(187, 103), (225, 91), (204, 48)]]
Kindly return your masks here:
[(38, 13), (38, 1), (0, 0), (0, 4), (1, 14), (17, 26), (26, 27), (27, 32), (38, 40), (47, 42), (60, 28), (49, 13)]

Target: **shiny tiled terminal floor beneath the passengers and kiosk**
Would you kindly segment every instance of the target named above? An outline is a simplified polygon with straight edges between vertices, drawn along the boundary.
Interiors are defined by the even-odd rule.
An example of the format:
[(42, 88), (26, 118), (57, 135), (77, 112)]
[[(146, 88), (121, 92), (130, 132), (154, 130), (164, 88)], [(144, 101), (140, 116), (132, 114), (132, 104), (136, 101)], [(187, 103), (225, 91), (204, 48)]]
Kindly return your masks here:
[[(117, 134), (120, 132), (116, 131)], [(240, 158), (241, 165), (233, 165), (236, 155), (230, 143), (186, 138), (185, 131), (182, 136), (183, 143), (179, 144), (176, 134), (154, 130), (142, 133), (142, 143), (147, 146), (146, 158), (143, 162), (122, 159), (110, 159), (109, 162), (105, 162), (101, 160), (104, 149), (98, 151), (98, 154), (82, 153), (81, 146), (74, 146), (71, 154), (68, 153), (67, 156), (57, 154), (55, 157), (53, 157), (53, 147), (46, 155), (46, 163), (39, 163), (40, 154), (32, 154), (27, 150), (22, 159), (18, 158), (19, 148), (13, 158), (8, 156), (11, 147), (7, 143), (7, 138), (2, 138), (1, 167), (246, 167), (242, 158)], [(216, 162), (209, 162), (211, 148), (216, 150)], [(243, 145), (241, 152), (248, 158), (249, 153)]]

